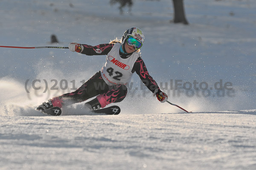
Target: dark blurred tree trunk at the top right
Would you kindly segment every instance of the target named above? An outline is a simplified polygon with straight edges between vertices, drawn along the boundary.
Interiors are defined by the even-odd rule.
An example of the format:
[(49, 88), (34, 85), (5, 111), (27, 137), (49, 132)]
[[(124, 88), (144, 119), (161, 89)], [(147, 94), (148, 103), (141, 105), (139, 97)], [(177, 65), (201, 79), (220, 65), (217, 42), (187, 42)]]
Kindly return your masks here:
[(183, 0), (172, 0), (174, 6), (174, 23), (189, 24), (185, 17)]

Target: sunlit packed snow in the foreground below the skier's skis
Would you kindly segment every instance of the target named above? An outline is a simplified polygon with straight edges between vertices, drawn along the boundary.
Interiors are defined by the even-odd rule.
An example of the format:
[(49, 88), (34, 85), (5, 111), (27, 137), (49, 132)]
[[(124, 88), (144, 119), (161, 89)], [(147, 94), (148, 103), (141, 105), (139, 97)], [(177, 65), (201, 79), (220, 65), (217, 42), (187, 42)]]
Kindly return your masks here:
[(255, 170), (245, 112), (1, 116), (1, 170)]

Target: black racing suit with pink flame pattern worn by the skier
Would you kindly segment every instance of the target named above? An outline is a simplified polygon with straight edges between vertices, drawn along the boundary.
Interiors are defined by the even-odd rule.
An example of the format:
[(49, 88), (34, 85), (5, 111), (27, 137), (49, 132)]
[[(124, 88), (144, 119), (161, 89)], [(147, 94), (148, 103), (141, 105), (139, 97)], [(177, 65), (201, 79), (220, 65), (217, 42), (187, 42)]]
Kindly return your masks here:
[[(84, 47), (82, 54), (85, 55), (108, 55), (108, 53), (113, 48), (113, 43), (100, 44), (98, 46), (90, 46), (83, 44)], [(121, 58), (128, 58), (131, 54), (121, 54)], [(136, 72), (140, 79), (143, 81), (145, 86), (154, 93), (155, 89), (159, 89), (159, 86), (154, 81), (154, 79), (148, 74), (147, 68), (145, 66), (142, 58), (138, 58), (134, 63), (132, 73)], [(89, 98), (93, 98), (97, 95), (97, 99), (101, 104), (101, 107), (105, 107), (108, 104), (116, 103), (122, 101), (127, 94), (127, 87), (125, 85), (114, 85), (108, 86), (103, 80), (101, 73), (96, 72), (93, 77), (87, 80), (79, 89), (74, 92), (61, 95), (52, 99), (53, 106), (62, 107), (66, 103), (73, 104), (77, 102), (86, 101)]]

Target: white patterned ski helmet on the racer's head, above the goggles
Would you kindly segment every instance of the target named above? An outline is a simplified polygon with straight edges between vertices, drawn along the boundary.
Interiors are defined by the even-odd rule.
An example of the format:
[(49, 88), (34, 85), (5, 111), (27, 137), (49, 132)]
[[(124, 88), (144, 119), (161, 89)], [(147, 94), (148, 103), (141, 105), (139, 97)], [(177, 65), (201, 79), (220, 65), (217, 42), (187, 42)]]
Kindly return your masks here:
[(121, 44), (124, 44), (129, 36), (134, 37), (136, 40), (138, 40), (141, 43), (141, 46), (143, 45), (145, 36), (144, 36), (143, 32), (141, 31), (141, 29), (139, 29), (137, 27), (131, 27), (131, 28), (127, 29), (124, 32), (124, 35), (122, 36)]

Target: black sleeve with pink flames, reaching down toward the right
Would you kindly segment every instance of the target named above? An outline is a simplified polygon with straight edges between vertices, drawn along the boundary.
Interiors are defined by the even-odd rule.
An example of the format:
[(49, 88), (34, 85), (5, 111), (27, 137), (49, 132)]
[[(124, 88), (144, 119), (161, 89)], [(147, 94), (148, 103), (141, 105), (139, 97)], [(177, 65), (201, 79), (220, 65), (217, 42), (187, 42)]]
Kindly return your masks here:
[(154, 79), (148, 74), (146, 65), (141, 58), (138, 58), (137, 61), (134, 63), (133, 70), (137, 73), (137, 75), (139, 75), (143, 84), (145, 84), (145, 86), (147, 86), (152, 93), (154, 93), (155, 89), (160, 90), (156, 81), (154, 81)]

